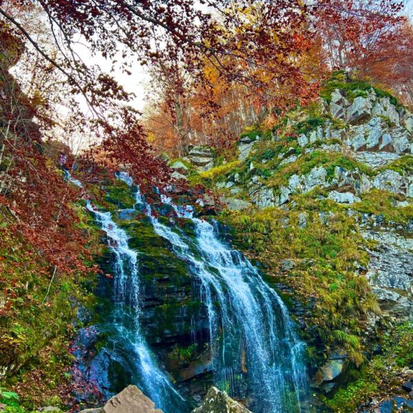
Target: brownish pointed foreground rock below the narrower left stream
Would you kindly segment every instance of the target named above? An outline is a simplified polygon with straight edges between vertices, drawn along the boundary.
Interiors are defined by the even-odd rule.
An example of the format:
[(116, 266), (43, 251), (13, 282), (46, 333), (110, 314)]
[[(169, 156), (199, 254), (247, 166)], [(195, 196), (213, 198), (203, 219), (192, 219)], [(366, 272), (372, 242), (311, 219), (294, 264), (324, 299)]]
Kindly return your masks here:
[(119, 394), (109, 399), (100, 409), (87, 409), (79, 413), (162, 413), (155, 403), (145, 396), (136, 385), (128, 385)]

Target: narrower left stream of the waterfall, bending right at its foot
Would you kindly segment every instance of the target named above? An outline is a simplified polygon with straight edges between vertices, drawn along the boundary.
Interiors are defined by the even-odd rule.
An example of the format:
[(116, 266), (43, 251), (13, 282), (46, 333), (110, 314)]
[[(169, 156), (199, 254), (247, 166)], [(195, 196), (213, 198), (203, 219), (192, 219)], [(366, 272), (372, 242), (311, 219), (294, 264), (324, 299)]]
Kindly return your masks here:
[(184, 399), (156, 363), (140, 328), (138, 253), (129, 248), (127, 233), (112, 220), (109, 212), (98, 211), (90, 202), (87, 209), (107, 235), (114, 273), (114, 308), (104, 327), (109, 339), (94, 359), (92, 373), (95, 371), (95, 379), (105, 390), (107, 363), (114, 360), (129, 374), (131, 383), (138, 385), (163, 412), (187, 412)]

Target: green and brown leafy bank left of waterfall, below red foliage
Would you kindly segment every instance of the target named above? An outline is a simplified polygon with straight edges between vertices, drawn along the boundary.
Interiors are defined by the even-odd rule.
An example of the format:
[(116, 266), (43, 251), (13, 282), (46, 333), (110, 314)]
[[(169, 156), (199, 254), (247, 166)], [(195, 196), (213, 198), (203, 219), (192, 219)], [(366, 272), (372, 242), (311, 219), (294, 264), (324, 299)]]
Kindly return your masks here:
[[(74, 208), (89, 250), (98, 255), (98, 228), (81, 205)], [(17, 392), (29, 410), (72, 401), (70, 346), (81, 326), (76, 315), (78, 308), (96, 304), (94, 262), (83, 262), (90, 272), (68, 276), (55, 271), (7, 221), (0, 224), (0, 371), (7, 373), (1, 385)]]

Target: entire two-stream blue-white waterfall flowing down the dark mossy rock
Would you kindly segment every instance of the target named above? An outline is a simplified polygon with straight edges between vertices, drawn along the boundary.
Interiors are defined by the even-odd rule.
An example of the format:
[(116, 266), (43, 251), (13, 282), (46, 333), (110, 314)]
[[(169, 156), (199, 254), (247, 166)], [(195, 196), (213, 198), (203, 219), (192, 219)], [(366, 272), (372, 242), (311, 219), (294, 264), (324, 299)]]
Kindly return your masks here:
[[(132, 186), (126, 174), (119, 178)], [(301, 412), (306, 397), (304, 344), (297, 338), (282, 299), (244, 255), (221, 240), (214, 223), (195, 218), (191, 207), (173, 204), (163, 195), (160, 198), (178, 217), (191, 222), (191, 231), (173, 219), (156, 218), (139, 191), (136, 207), (145, 211), (155, 233), (171, 242), (173, 252), (198, 279), (198, 293), (209, 319), (215, 385), (245, 399), (254, 413)], [(87, 209), (107, 234), (114, 273), (114, 307), (103, 327), (108, 339), (92, 363), (92, 370), (98, 366), (101, 371), (92, 375), (105, 388), (109, 360), (116, 361), (156, 407), (165, 413), (186, 413), (188, 403), (160, 367), (140, 327), (138, 251), (129, 248), (127, 233), (109, 212), (89, 202)]]

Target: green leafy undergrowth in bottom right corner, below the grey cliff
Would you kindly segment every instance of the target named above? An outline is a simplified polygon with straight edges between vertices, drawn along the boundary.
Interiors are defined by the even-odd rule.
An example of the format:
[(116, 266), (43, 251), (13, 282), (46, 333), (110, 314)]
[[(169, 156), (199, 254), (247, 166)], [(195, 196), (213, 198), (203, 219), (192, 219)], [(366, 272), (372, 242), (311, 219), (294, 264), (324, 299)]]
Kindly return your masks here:
[[(338, 390), (332, 399), (324, 402), (339, 413), (354, 412), (369, 399), (381, 400), (400, 393), (405, 381), (401, 371), (413, 364), (413, 323), (396, 326), (383, 336), (383, 354), (373, 357), (346, 388)], [(403, 390), (402, 390), (403, 392)], [(401, 393), (405, 395), (405, 393)]]

